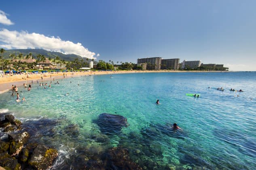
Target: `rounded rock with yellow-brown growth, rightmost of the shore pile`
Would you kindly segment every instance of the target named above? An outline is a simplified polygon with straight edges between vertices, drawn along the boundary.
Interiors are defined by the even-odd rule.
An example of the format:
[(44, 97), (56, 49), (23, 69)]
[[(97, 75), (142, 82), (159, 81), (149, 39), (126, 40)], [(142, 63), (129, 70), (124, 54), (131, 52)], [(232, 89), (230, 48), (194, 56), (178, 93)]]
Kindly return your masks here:
[(43, 145), (38, 145), (34, 149), (28, 164), (38, 170), (46, 170), (52, 165), (58, 152), (56, 149), (47, 148)]

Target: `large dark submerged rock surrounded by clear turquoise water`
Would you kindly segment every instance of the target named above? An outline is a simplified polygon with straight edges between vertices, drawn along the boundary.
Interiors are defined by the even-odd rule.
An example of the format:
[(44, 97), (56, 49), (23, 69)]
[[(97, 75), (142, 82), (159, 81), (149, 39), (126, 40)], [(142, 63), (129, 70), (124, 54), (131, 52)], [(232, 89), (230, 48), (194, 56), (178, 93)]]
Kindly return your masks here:
[(123, 127), (129, 126), (127, 118), (121, 115), (114, 115), (108, 113), (102, 113), (98, 116), (97, 120), (93, 121), (96, 123), (100, 131), (106, 135), (112, 133), (119, 133)]

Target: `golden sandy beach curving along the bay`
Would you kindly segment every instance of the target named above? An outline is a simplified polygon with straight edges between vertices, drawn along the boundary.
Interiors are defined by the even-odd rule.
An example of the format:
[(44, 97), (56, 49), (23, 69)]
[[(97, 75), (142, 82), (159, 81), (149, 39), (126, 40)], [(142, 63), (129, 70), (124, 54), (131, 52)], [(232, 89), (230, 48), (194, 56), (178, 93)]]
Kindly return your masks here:
[[(71, 77), (78, 77), (82, 75), (112, 75), (112, 74), (128, 74), (128, 73), (222, 73), (222, 72), (230, 72), (230, 71), (184, 71), (184, 70), (132, 70), (132, 71), (82, 71), (82, 72), (65, 72), (65, 77), (63, 77), (63, 73), (45, 73), (45, 74), (30, 74), (27, 78), (27, 74), (21, 75), (13, 75), (0, 77), (0, 94), (5, 93), (11, 89), (12, 85), (16, 85), (20, 87), (25, 84), (30, 84), (32, 81), (45, 81), (51, 79), (66, 79)], [(43, 77), (43, 79), (41, 79)]]

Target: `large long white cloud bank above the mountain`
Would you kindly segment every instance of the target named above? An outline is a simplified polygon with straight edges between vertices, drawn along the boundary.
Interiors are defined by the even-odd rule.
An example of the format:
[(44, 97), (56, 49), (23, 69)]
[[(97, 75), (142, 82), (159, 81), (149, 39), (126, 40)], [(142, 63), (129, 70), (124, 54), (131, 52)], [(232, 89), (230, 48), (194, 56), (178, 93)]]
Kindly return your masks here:
[(40, 48), (47, 51), (62, 52), (63, 54), (76, 54), (91, 59), (95, 56), (94, 52), (90, 52), (81, 43), (74, 44), (71, 41), (61, 40), (59, 37), (47, 37), (43, 34), (26, 31), (18, 32), (2, 29), (0, 31), (0, 42), (2, 42), (2, 48), (7, 49)]

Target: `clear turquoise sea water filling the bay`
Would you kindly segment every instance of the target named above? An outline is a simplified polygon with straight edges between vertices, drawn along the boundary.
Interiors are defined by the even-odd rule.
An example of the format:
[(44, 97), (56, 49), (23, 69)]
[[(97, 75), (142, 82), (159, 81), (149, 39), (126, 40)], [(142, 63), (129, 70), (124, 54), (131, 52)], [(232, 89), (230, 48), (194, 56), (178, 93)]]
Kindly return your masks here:
[[(37, 127), (44, 135), (31, 140), (59, 150), (53, 169), (71, 164), (81, 148), (97, 155), (111, 147), (128, 148), (131, 160), (146, 169), (255, 169), (256, 72), (113, 77), (59, 79), (47, 89), (34, 83), (32, 91), (19, 88), (26, 102), (17, 104), (11, 92), (0, 94), (0, 109), (8, 109), (33, 128), (39, 120), (48, 121)], [(155, 104), (157, 99), (160, 105)], [(129, 126), (117, 134), (102, 134), (94, 123), (102, 113), (122, 115)], [(174, 122), (183, 131), (171, 131), (168, 126)]]

